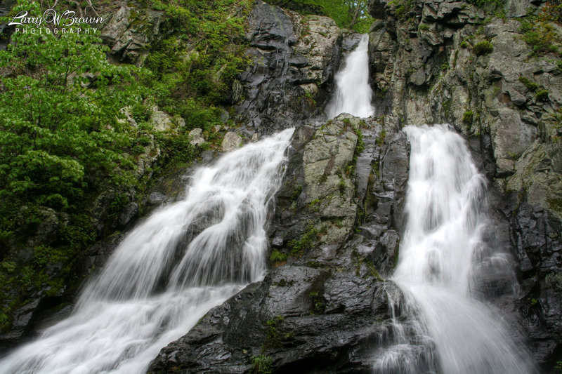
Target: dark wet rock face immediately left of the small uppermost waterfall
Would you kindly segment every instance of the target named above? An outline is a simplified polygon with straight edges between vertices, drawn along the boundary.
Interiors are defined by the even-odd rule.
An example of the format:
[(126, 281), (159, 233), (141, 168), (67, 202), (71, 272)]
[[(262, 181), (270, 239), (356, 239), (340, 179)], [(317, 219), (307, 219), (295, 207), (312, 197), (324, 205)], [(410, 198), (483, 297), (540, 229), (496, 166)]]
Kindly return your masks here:
[(249, 17), (247, 55), (254, 62), (233, 86), (237, 121), (254, 132), (322, 118), (342, 32), (334, 20), (303, 16), (258, 1)]

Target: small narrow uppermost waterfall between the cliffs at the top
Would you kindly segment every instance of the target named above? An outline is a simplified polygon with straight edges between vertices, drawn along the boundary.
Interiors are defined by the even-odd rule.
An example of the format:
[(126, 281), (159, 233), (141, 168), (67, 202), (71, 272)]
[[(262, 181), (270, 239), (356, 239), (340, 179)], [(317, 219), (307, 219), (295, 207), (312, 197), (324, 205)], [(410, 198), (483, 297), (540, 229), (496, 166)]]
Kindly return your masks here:
[(340, 113), (358, 117), (374, 114), (371, 105), (372, 89), (369, 85), (369, 36), (364, 34), (355, 49), (344, 61), (343, 69), (336, 74), (336, 92), (326, 107), (326, 114), (334, 118)]

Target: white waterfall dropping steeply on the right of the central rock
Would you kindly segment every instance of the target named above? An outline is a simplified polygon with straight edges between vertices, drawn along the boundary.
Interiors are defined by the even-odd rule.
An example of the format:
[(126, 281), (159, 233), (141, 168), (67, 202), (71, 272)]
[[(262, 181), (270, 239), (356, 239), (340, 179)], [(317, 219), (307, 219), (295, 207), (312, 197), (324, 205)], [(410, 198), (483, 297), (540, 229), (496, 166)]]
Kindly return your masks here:
[[(379, 359), (375, 371), (420, 373), (422, 365), (445, 374), (535, 373), (525, 347), (514, 342), (514, 331), (475, 286), (485, 263), (494, 264), (487, 272), (512, 274), (507, 253), (483, 241), (490, 226), (485, 178), (464, 140), (447, 126), (404, 131), (412, 147), (407, 225), (393, 281), (405, 295), (403, 310), (418, 322), (408, 327), (414, 336), (409, 342), (396, 334), (398, 345)], [(408, 345), (417, 360), (400, 362), (396, 352)], [(426, 349), (419, 356), (421, 346)]]

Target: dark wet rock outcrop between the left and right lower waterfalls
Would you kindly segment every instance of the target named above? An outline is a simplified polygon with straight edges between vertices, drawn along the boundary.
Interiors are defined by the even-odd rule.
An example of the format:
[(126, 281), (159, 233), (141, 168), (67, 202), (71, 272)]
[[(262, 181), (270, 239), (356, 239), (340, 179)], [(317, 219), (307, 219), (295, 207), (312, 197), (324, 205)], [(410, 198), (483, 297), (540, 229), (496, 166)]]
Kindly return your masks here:
[(345, 114), (297, 128), (268, 232), (273, 269), (149, 372), (249, 373), (259, 359), (279, 373), (368, 372), (391, 330), (388, 298), (401, 298), (381, 274), (398, 248), (408, 153), (403, 133)]

